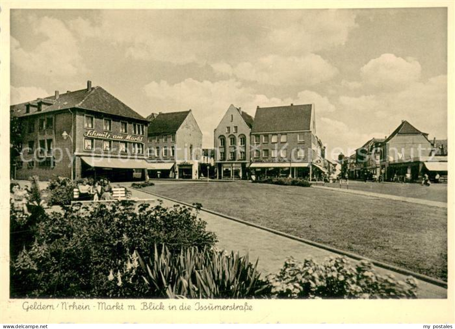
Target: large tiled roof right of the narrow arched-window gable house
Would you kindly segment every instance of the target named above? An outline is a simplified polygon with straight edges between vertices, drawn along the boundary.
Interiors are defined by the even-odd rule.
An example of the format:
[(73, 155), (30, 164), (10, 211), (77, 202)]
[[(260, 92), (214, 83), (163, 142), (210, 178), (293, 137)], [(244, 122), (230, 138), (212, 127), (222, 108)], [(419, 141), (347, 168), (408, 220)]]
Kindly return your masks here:
[(310, 130), (312, 104), (258, 108), (252, 133)]

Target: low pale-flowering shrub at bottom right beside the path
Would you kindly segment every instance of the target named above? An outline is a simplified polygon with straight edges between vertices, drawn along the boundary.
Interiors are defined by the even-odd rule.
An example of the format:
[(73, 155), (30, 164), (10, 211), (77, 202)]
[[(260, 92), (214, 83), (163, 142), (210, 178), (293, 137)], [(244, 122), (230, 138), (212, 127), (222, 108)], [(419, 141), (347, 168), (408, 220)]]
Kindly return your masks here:
[(417, 281), (379, 275), (367, 261), (350, 265), (344, 257), (323, 264), (288, 258), (278, 274), (269, 275), (271, 293), (280, 298), (416, 298)]

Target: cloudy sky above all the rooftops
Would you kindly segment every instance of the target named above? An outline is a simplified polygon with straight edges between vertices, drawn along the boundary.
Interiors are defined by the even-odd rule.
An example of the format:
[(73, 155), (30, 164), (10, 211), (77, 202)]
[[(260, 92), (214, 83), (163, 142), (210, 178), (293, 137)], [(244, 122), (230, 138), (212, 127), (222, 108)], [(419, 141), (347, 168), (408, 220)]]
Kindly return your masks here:
[[(329, 151), (401, 120), (447, 137), (447, 11), (11, 10), (11, 103), (85, 88), (192, 109), (211, 147), (232, 103), (314, 103)], [(335, 152), (338, 152), (335, 150)]]

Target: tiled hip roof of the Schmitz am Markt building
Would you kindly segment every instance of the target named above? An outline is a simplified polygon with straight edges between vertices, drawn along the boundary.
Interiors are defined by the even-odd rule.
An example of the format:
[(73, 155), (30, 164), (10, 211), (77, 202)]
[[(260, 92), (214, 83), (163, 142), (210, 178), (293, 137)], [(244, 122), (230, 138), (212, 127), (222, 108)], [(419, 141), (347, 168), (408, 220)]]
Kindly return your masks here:
[[(51, 105), (43, 108), (39, 113), (48, 113), (66, 108), (85, 108), (96, 112), (108, 113), (122, 117), (146, 120), (142, 115), (131, 109), (119, 99), (112, 96), (101, 87), (94, 87), (90, 90), (81, 89), (69, 93), (63, 93), (56, 99), (55, 95), (45, 97), (50, 100)], [(16, 104), (11, 106), (14, 116), (23, 117), (37, 113), (37, 109), (30, 107), (30, 113), (25, 112), (26, 104), (36, 104), (37, 100)]]

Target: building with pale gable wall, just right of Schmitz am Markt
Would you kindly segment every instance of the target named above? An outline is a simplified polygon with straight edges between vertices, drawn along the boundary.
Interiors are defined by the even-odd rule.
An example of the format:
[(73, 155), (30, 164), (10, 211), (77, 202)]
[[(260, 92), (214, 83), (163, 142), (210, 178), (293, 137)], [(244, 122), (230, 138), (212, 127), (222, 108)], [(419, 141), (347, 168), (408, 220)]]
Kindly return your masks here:
[(151, 178), (197, 179), (202, 132), (192, 111), (147, 117), (147, 169)]

